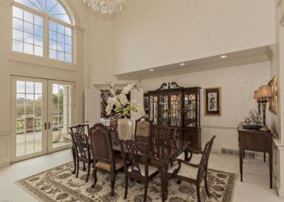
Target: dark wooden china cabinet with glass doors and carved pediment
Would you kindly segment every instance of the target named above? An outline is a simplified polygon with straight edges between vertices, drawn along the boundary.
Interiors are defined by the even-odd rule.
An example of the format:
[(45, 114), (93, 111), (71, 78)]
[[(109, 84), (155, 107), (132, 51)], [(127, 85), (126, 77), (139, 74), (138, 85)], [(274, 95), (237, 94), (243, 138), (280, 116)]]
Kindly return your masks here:
[(160, 124), (176, 127), (180, 138), (190, 141), (194, 149), (201, 149), (200, 89), (180, 87), (173, 82), (148, 91), (148, 116), (154, 127)]

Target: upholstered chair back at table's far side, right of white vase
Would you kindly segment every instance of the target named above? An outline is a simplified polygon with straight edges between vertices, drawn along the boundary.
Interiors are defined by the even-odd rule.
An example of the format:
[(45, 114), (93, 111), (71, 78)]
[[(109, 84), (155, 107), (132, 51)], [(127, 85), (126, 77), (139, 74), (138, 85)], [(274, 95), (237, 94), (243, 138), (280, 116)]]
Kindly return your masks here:
[(137, 137), (152, 138), (153, 122), (148, 118), (136, 119), (134, 138), (137, 141)]

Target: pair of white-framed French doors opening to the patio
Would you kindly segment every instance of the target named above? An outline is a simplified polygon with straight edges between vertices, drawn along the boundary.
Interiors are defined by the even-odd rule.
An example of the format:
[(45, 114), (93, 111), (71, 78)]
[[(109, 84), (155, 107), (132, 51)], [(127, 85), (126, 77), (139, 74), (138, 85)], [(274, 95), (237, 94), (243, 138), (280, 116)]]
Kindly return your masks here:
[(71, 147), (74, 83), (11, 78), (12, 161)]

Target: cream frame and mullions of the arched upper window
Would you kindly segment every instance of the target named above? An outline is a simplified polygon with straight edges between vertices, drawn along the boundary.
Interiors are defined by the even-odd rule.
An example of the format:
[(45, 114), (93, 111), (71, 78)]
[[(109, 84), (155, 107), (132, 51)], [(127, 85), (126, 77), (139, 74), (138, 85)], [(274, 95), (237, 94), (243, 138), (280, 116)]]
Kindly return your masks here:
[[(60, 2), (60, 4), (62, 4), (62, 2)], [(13, 48), (12, 48), (13, 47), (13, 6), (17, 7), (18, 9), (23, 9), (24, 11), (31, 12), (32, 14), (35, 14), (37, 16), (43, 17), (43, 56), (30, 55), (30, 54), (27, 54), (27, 53), (22, 53), (22, 52), (18, 52), (18, 51), (14, 51), (13, 50)], [(62, 6), (64, 6), (64, 5), (62, 5)], [(71, 53), (72, 62), (71, 63), (66, 62), (65, 60), (55, 60), (53, 58), (49, 58), (49, 21), (53, 21), (55, 23), (59, 23), (62, 26), (66, 26), (67, 28), (71, 29), (71, 46), (72, 46), (71, 47), (72, 48), (72, 53)], [(16, 2), (16, 1), (12, 1), (11, 2), (11, 40), (10, 40), (11, 41), (11, 51), (13, 53), (16, 52), (16, 53), (28, 55), (28, 56), (31, 56), (31, 57), (45, 58), (45, 59), (53, 60), (53, 61), (56, 61), (56, 62), (59, 62), (59, 63), (75, 64), (75, 61), (76, 61), (75, 60), (75, 55), (76, 55), (75, 54), (75, 40), (74, 40), (74, 38), (75, 38), (74, 37), (74, 33), (75, 33), (74, 27), (75, 26), (72, 25), (72, 23), (73, 23), (72, 22), (72, 18), (70, 18), (70, 21), (71, 21), (71, 24), (65, 23), (64, 21), (60, 21), (57, 18), (54, 18), (53, 16), (50, 16), (48, 13), (37, 11), (35, 9), (31, 9), (30, 7), (28, 7), (26, 5), (20, 4), (20, 3)], [(18, 54), (16, 54), (16, 55), (18, 55)], [(16, 58), (16, 56), (15, 56), (15, 58)]]

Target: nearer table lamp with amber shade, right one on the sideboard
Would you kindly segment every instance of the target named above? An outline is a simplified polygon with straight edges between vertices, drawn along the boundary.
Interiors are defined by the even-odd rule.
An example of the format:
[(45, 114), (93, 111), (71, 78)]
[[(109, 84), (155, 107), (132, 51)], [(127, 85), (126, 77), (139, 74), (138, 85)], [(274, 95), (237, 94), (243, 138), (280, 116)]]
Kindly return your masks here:
[(268, 129), (266, 125), (266, 102), (272, 97), (271, 87), (269, 85), (261, 85), (261, 87), (258, 88), (258, 97), (261, 99), (263, 110), (263, 127), (259, 130), (269, 132), (270, 129)]

